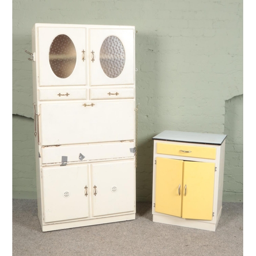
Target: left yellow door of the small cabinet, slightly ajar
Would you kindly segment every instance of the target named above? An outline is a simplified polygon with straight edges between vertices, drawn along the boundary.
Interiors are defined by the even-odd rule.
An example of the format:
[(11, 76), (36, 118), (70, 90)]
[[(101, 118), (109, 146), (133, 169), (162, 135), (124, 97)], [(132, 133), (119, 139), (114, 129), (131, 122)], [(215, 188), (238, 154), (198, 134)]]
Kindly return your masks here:
[(181, 217), (183, 161), (157, 157), (156, 211)]

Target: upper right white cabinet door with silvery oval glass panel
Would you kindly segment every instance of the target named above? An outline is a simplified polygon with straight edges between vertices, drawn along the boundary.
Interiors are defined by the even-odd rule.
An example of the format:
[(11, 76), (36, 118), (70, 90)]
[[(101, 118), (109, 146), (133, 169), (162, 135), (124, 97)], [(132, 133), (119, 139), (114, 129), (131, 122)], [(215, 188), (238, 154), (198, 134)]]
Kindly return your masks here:
[(134, 30), (90, 29), (91, 86), (134, 84)]

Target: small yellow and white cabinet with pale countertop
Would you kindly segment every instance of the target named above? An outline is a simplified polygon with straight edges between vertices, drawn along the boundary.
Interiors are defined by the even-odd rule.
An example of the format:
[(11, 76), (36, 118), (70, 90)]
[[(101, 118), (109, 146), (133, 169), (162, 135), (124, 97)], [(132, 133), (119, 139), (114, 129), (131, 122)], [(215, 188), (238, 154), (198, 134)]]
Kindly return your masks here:
[(225, 138), (174, 131), (153, 138), (154, 222), (216, 230), (222, 209)]

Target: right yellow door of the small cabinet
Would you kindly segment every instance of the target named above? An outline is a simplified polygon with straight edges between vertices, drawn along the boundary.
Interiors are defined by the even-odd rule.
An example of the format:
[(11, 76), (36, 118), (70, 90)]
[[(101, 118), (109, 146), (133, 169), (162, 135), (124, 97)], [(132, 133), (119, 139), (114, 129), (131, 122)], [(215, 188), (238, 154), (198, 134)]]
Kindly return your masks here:
[(212, 220), (215, 163), (184, 161), (182, 218)]

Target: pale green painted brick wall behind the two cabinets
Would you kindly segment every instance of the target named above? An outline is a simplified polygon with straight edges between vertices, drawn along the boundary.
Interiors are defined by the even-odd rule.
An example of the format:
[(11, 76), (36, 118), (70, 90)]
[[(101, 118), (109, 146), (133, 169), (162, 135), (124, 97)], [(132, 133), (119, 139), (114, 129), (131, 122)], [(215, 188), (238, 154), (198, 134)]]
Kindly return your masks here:
[[(14, 128), (15, 197), (35, 197), (36, 191), (33, 170), (27, 170), (33, 158), (25, 164), (17, 157), (33, 147), (32, 68), (24, 50), (31, 50), (34, 23), (136, 26), (138, 201), (152, 200), (152, 137), (163, 130), (223, 134), (225, 102), (243, 94), (241, 0), (14, 0), (13, 120), (27, 126)], [(19, 139), (25, 137), (26, 143)], [(241, 184), (228, 179), (224, 187), (241, 192)], [(237, 200), (236, 192), (225, 193), (226, 201)]]

